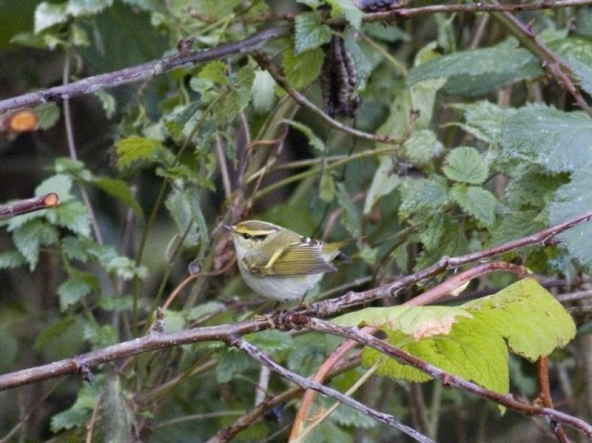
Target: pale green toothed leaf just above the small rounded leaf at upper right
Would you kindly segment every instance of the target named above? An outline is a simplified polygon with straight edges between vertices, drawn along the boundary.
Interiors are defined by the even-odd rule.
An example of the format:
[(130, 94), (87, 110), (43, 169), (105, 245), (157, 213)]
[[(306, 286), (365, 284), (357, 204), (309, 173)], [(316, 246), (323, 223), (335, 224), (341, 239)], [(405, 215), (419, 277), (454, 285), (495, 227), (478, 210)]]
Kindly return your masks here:
[(489, 101), (454, 103), (448, 106), (460, 110), (465, 121), (465, 123), (449, 123), (450, 125), (462, 127), (478, 140), (492, 145), (500, 143), (504, 122), (515, 113), (513, 108), (500, 107)]

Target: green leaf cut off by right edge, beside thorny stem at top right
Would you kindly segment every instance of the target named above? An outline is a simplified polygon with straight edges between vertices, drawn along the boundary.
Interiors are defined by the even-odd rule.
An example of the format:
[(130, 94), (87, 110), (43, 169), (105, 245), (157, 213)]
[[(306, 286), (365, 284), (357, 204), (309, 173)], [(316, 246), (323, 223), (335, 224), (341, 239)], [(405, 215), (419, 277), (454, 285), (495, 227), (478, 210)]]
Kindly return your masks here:
[(580, 80), (580, 86), (592, 93), (592, 41), (584, 37), (568, 37), (549, 43), (549, 48), (567, 61)]

